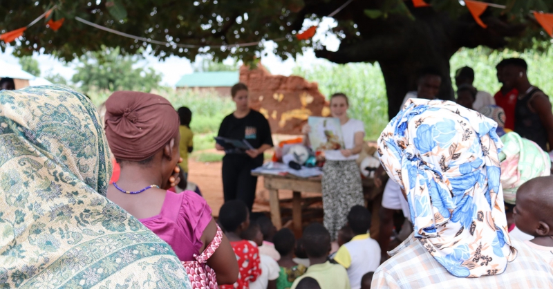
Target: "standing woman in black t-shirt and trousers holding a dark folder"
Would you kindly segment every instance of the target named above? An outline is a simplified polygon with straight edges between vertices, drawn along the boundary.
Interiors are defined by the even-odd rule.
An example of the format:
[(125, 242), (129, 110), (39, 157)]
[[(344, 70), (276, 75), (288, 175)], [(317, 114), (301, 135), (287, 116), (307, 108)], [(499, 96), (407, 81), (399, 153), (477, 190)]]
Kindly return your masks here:
[[(255, 149), (245, 153), (226, 151), (223, 158), (223, 194), (225, 202), (235, 199), (244, 201), (251, 212), (257, 185), (257, 177), (252, 176), (251, 171), (263, 165), (263, 151), (273, 146), (271, 128), (261, 113), (250, 109), (250, 97), (245, 84), (234, 84), (231, 95), (236, 103), (236, 111), (221, 122), (218, 136), (247, 140)], [(219, 151), (225, 150), (218, 144), (215, 147)]]

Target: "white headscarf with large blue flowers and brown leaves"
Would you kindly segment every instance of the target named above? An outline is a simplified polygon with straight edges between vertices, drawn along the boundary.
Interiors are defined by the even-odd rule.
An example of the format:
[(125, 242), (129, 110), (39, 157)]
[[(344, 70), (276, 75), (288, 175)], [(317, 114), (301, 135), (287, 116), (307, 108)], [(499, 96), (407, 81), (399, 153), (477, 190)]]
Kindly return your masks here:
[(454, 102), (411, 99), (378, 139), (380, 162), (406, 194), (415, 237), (456, 277), (501, 274), (516, 258), (496, 126)]

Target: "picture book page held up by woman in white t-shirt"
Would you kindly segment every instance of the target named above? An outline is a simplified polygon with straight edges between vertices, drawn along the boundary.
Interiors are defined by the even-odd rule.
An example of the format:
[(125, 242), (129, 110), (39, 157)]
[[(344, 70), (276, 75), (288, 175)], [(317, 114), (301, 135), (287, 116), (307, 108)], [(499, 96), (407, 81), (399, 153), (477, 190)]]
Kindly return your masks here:
[(344, 137), (338, 118), (311, 116), (308, 124), (311, 127), (309, 140), (314, 151), (344, 149)]

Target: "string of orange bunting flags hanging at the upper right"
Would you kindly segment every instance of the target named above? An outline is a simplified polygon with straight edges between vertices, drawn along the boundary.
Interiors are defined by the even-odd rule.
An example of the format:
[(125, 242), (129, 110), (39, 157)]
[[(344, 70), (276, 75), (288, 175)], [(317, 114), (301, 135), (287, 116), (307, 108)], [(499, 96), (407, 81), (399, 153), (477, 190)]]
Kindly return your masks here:
[[(429, 3), (424, 2), (424, 0), (411, 0), (413, 1), (413, 7), (420, 8), (420, 7), (428, 7), (430, 6)], [(494, 7), (494, 8), (500, 8), (505, 9), (507, 6), (505, 5), (499, 5), (495, 3), (487, 3), (487, 2), (481, 2), (481, 1), (474, 1), (474, 0), (464, 0), (465, 6), (467, 6), (467, 9), (469, 12), (471, 12), (472, 17), (474, 18), (474, 21), (482, 28), (487, 28), (487, 25), (480, 19), (480, 15), (484, 13), (484, 11), (488, 7)], [(536, 21), (545, 29), (545, 32), (547, 32), (548, 35), (553, 37), (553, 13), (544, 13), (544, 12), (538, 12), (538, 11), (532, 11), (534, 13), (534, 17), (536, 17)]]

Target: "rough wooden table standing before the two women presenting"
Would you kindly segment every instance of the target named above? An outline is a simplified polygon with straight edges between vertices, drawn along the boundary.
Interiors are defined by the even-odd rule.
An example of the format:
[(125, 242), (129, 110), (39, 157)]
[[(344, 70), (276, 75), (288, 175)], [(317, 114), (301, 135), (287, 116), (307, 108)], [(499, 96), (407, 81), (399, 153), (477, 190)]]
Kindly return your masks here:
[(263, 176), (263, 185), (269, 191), (271, 221), (277, 230), (282, 227), (279, 189), (292, 191), (292, 227), (296, 236), (301, 236), (301, 192), (321, 193), (321, 177), (299, 178), (290, 174), (286, 176), (252, 173), (252, 176)]

